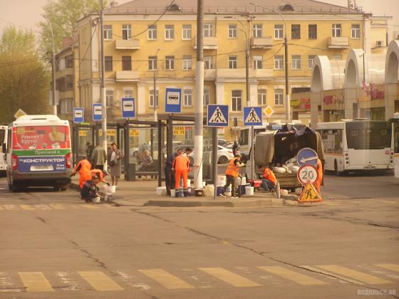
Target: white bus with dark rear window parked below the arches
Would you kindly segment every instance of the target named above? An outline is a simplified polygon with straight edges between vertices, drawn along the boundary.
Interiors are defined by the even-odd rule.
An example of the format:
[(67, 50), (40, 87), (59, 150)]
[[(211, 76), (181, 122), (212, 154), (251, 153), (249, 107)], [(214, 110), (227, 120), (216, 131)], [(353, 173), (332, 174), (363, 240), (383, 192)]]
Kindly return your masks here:
[(393, 168), (391, 130), (383, 120), (319, 122), (324, 145), (324, 169), (336, 172), (388, 170)]

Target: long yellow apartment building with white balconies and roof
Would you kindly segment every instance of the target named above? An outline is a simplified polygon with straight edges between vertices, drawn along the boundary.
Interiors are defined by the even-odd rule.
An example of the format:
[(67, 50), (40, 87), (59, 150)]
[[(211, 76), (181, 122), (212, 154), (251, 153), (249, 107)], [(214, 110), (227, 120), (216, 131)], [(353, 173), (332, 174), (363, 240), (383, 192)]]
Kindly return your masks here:
[[(255, 1), (255, 0), (254, 0)], [(350, 48), (382, 51), (393, 36), (390, 17), (301, 0), (204, 0), (204, 105), (229, 105), (230, 119), (242, 124), (247, 103), (245, 50), (249, 47), (251, 105), (270, 105), (270, 120), (284, 120), (284, 34), (289, 43), (289, 93), (310, 90), (315, 56), (345, 60)], [(165, 88), (182, 89), (182, 113), (193, 115), (197, 1), (136, 0), (104, 12), (105, 85), (110, 121), (120, 117), (120, 99), (137, 100), (140, 120), (152, 120), (153, 78), (157, 113), (165, 113)], [(78, 22), (78, 105), (91, 120), (100, 103), (98, 14)], [(76, 103), (77, 104), (77, 103)], [(204, 110), (206, 112), (206, 110)], [(310, 119), (309, 112), (294, 118)], [(264, 117), (266, 120), (266, 117)], [(232, 122), (231, 122), (232, 125)]]

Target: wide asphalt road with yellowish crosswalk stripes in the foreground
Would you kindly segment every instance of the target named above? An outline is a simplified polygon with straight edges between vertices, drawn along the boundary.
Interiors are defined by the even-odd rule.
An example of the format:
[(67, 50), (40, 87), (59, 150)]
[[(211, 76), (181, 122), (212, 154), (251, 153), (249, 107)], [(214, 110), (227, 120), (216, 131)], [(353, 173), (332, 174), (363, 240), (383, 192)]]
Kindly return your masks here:
[(128, 207), (0, 179), (0, 298), (399, 297), (399, 180), (327, 176), (321, 192), (301, 207)]

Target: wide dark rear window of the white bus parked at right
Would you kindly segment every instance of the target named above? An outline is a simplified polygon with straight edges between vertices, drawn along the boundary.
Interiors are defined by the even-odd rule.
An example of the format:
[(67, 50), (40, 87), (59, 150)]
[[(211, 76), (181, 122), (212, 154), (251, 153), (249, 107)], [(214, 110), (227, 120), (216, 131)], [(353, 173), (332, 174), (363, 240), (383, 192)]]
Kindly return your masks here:
[(388, 122), (346, 122), (348, 149), (381, 150), (390, 147)]

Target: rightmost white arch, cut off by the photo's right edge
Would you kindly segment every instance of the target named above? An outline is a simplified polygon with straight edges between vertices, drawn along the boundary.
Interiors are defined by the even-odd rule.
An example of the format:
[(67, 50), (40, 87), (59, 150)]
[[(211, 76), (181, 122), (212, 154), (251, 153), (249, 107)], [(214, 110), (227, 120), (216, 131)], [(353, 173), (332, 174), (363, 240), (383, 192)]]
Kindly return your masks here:
[(399, 107), (399, 41), (391, 41), (385, 60), (385, 120), (393, 117)]

